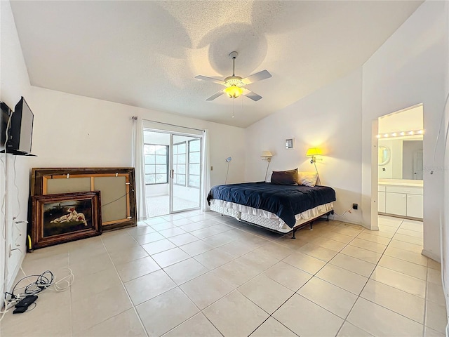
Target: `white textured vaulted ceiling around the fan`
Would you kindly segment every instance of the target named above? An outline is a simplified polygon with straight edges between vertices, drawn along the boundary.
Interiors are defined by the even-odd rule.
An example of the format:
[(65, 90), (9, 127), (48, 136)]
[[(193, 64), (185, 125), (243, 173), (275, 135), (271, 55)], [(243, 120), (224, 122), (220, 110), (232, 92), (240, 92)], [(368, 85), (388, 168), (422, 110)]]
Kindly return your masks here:
[[(11, 1), (34, 86), (246, 127), (360, 67), (422, 1)], [(262, 100), (206, 102), (232, 74)]]

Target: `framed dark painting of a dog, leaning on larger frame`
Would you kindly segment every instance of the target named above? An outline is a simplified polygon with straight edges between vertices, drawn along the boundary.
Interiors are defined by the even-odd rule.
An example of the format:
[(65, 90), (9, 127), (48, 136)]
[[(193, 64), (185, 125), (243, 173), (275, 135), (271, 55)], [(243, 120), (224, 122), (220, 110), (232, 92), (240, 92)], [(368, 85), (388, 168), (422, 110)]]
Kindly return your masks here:
[(100, 235), (100, 191), (32, 197), (32, 249)]

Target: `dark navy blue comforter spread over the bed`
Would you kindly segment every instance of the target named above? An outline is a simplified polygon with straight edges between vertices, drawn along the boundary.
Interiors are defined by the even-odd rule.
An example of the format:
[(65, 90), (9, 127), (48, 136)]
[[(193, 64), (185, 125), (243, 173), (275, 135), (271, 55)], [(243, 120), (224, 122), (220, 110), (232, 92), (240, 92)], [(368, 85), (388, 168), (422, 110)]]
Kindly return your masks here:
[(288, 226), (295, 225), (295, 214), (335, 201), (335, 191), (327, 186), (290, 186), (272, 183), (218, 185), (208, 194), (210, 199), (263, 209), (279, 216)]

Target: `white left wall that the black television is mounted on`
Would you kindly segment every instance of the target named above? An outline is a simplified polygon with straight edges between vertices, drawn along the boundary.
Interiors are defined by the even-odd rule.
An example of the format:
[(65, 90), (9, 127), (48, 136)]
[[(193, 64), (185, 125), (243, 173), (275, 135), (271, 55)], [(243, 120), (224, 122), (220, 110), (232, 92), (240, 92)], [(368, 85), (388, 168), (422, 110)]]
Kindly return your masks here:
[[(0, 1), (0, 12), (0, 100), (14, 109), (20, 96), (28, 97), (29, 79), (9, 1)], [(15, 224), (13, 217), (16, 220), (27, 220), (28, 168), (33, 159), (13, 157), (11, 154), (0, 154), (0, 159), (1, 232), (4, 232), (6, 226), (6, 237), (0, 237), (0, 291), (4, 293), (6, 289), (11, 289), (18, 266), (25, 256), (27, 226), (25, 223)], [(10, 244), (12, 249), (22, 252), (15, 250), (9, 257), (5, 254), (5, 247)], [(5, 263), (7, 275), (4, 275)]]

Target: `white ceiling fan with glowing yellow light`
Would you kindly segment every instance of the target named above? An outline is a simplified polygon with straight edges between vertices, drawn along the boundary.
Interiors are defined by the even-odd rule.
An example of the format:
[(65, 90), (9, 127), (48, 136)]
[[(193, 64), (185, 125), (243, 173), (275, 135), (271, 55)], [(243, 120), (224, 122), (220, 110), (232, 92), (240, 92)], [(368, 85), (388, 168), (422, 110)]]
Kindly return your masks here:
[(215, 100), (215, 98), (223, 95), (224, 93), (226, 93), (230, 98), (237, 98), (240, 95), (245, 95), (246, 97), (256, 102), (257, 100), (260, 100), (260, 98), (262, 98), (262, 96), (257, 95), (257, 93), (253, 93), (253, 91), (250, 91), (245, 86), (256, 81), (262, 81), (262, 79), (269, 79), (270, 77), (272, 77), (272, 74), (267, 72), (267, 70), (262, 70), (262, 72), (257, 72), (248, 77), (245, 77), (244, 79), (236, 76), (235, 69), (237, 56), (239, 56), (239, 53), (237, 53), (236, 51), (229, 53), (229, 58), (232, 59), (232, 76), (226, 77), (224, 80), (214, 79), (213, 77), (206, 77), (202, 75), (198, 75), (195, 77), (196, 79), (202, 79), (203, 81), (211, 81), (217, 84), (222, 84), (226, 87), (218, 91), (217, 93), (214, 93), (210, 96), (210, 98), (206, 100)]

